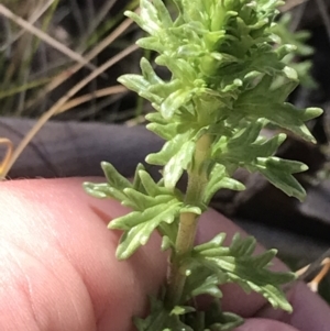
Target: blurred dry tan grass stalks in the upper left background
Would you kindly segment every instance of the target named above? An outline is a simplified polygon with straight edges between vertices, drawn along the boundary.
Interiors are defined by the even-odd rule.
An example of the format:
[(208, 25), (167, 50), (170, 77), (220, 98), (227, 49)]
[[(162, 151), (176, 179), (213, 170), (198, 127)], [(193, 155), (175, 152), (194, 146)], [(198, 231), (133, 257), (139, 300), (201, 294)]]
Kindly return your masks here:
[[(74, 5), (75, 1), (70, 2), (73, 15), (78, 21), (81, 20), (82, 12)], [(2, 100), (0, 114), (32, 115), (37, 117), (38, 121), (15, 148), (7, 139), (0, 140), (0, 144), (8, 146), (8, 153), (0, 165), (0, 178), (2, 179), (6, 178), (10, 167), (24, 147), (52, 117), (77, 109), (88, 101), (92, 101), (95, 107), (99, 98), (124, 95), (125, 88), (113, 85), (113, 81), (108, 84), (109, 74), (107, 71), (109, 73), (109, 69), (116, 64), (138, 49), (132, 42), (128, 42), (127, 37), (130, 33), (129, 30), (132, 31), (132, 22), (122, 15), (125, 8), (135, 9), (136, 1), (128, 1), (128, 4), (119, 10), (117, 16), (106, 18), (105, 14), (116, 4), (113, 0), (106, 1), (98, 11), (94, 9), (94, 20), (81, 31), (78, 41), (74, 41), (67, 31), (63, 31), (64, 27), (61, 24), (54, 24), (58, 12), (63, 9), (58, 0), (30, 0), (25, 1), (26, 5), (20, 5), (20, 1), (11, 1), (0, 4), (2, 23), (10, 25), (8, 35), (2, 41), (1, 63), (6, 62), (6, 51), (10, 53), (11, 58), (8, 66), (3, 65), (0, 68), (0, 74), (4, 77), (0, 89), (0, 99)], [(34, 10), (30, 11), (30, 8), (34, 8)], [(13, 12), (15, 10), (16, 13)], [(98, 37), (96, 33), (98, 29), (103, 31), (102, 37)], [(113, 43), (117, 44), (113, 45)], [(111, 46), (116, 49), (114, 53), (112, 52), (113, 56), (107, 58), (101, 65), (92, 63), (101, 52), (111, 49)], [(46, 65), (38, 62), (38, 52), (42, 49), (51, 54), (51, 60), (46, 62)], [(59, 56), (55, 57), (54, 52)], [(36, 62), (36, 69), (34, 62)], [(84, 70), (85, 67), (88, 70)], [(90, 85), (97, 82), (99, 76), (103, 77), (102, 85), (106, 82), (106, 87), (98, 88), (97, 84)], [(67, 84), (68, 80), (70, 80), (69, 84)], [(62, 86), (66, 92), (57, 96)], [(77, 97), (86, 87), (87, 92)], [(57, 96), (55, 102), (48, 101), (52, 99), (52, 93)], [(51, 106), (48, 106), (50, 103)], [(48, 108), (46, 109), (45, 106)], [(35, 110), (37, 108), (46, 110), (41, 113)], [(89, 111), (94, 114), (95, 112)]]

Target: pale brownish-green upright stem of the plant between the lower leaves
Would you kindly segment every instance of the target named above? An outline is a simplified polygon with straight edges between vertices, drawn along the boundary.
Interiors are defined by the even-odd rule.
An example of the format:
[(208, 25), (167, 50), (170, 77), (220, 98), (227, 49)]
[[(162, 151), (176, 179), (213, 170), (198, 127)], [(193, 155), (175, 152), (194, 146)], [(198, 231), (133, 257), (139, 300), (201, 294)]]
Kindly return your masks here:
[[(208, 183), (207, 161), (210, 157), (210, 146), (211, 139), (208, 134), (202, 135), (196, 143), (194, 161), (188, 169), (188, 186), (185, 197), (186, 205), (202, 205), (204, 191)], [(180, 214), (175, 250), (172, 251), (170, 256), (165, 298), (166, 306), (169, 309), (179, 305), (182, 301), (187, 278), (183, 263), (194, 247), (197, 223), (198, 214), (194, 212), (183, 212)]]

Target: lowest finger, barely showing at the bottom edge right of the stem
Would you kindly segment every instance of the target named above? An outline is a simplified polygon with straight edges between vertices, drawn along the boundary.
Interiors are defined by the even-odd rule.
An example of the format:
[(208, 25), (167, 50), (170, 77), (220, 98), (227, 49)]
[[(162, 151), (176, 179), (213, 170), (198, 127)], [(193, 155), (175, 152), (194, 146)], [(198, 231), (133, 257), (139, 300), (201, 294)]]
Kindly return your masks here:
[[(314, 329), (312, 329), (314, 330)], [(234, 331), (298, 331), (288, 324), (262, 318), (250, 318)]]

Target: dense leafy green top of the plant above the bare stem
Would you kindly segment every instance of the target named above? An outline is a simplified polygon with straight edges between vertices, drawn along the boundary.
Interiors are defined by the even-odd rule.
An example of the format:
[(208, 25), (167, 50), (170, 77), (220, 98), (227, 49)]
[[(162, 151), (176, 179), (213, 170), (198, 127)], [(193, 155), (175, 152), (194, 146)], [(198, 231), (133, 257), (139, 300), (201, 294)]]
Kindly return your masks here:
[[(226, 141), (230, 145), (238, 133), (263, 120), (315, 142), (304, 122), (319, 115), (321, 110), (298, 109), (284, 102), (296, 87), (297, 77), (282, 62), (290, 47), (272, 46), (274, 27), (268, 29), (272, 20), (266, 18), (271, 12), (274, 14), (277, 1), (249, 2), (249, 5), (248, 1), (218, 1), (213, 5), (195, 1), (195, 7), (176, 3), (184, 13), (175, 21), (164, 14), (162, 1), (154, 4), (141, 1), (141, 15), (129, 13), (151, 34), (139, 44), (161, 53), (156, 63), (168, 67), (172, 80), (163, 81), (145, 58), (141, 60), (142, 76), (125, 75), (119, 79), (158, 111), (147, 117), (152, 121), (147, 128), (168, 142), (160, 153), (150, 155), (147, 162), (165, 166), (166, 186), (176, 185), (191, 159), (194, 143), (205, 133), (210, 133), (215, 142)], [(220, 18), (222, 24), (219, 12), (227, 12)], [(215, 30), (216, 25), (219, 30)], [(284, 82), (274, 89), (273, 82), (278, 78)], [(238, 165), (246, 163), (244, 156), (252, 151), (255, 158), (263, 157), (257, 155), (256, 145), (263, 144), (263, 153), (271, 157), (284, 141), (284, 135), (279, 135), (256, 143), (258, 136), (260, 132), (244, 144), (241, 148), (246, 151), (244, 155), (237, 153)], [(215, 161), (220, 158), (221, 155)], [(265, 165), (271, 165), (272, 170), (263, 170)], [(277, 167), (284, 168), (274, 159), (262, 159), (260, 166), (251, 165), (249, 169), (260, 170), (285, 192), (302, 199), (304, 189), (292, 174), (306, 167), (286, 163), (287, 175), (276, 180)]]

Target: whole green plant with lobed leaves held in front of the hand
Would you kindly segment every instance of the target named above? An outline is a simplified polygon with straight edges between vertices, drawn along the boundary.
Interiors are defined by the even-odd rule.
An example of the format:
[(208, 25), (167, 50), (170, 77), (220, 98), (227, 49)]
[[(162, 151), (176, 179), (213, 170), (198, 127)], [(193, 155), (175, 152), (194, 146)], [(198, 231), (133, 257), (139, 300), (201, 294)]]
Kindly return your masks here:
[[(260, 172), (289, 196), (304, 199), (305, 191), (293, 174), (307, 166), (274, 156), (286, 135), (271, 139), (262, 129), (273, 123), (315, 142), (305, 121), (320, 109), (298, 109), (285, 102), (297, 86), (294, 69), (283, 57), (293, 46), (274, 47), (274, 18), (278, 0), (174, 0), (173, 19), (161, 0), (141, 0), (140, 14), (128, 12), (150, 36), (138, 41), (158, 53), (155, 62), (166, 66), (169, 81), (160, 78), (145, 58), (142, 76), (125, 75), (119, 81), (150, 100), (155, 113), (147, 114), (147, 129), (166, 140), (162, 151), (146, 162), (163, 167), (154, 181), (139, 165), (133, 183), (111, 164), (102, 163), (106, 184), (86, 183), (98, 198), (114, 198), (133, 211), (110, 222), (120, 229), (117, 256), (129, 258), (147, 243), (156, 230), (162, 250), (170, 251), (167, 283), (151, 299), (146, 319), (136, 319), (140, 331), (232, 330), (242, 318), (221, 310), (220, 285), (237, 283), (257, 291), (275, 308), (292, 310), (280, 286), (292, 273), (268, 269), (275, 250), (253, 255), (255, 240), (237, 234), (223, 244), (226, 233), (194, 246), (198, 219), (216, 191), (243, 190), (233, 179), (240, 167)], [(274, 81), (282, 77), (280, 86)], [(186, 173), (187, 189), (177, 183)], [(215, 298), (207, 311), (197, 311), (196, 297)]]

